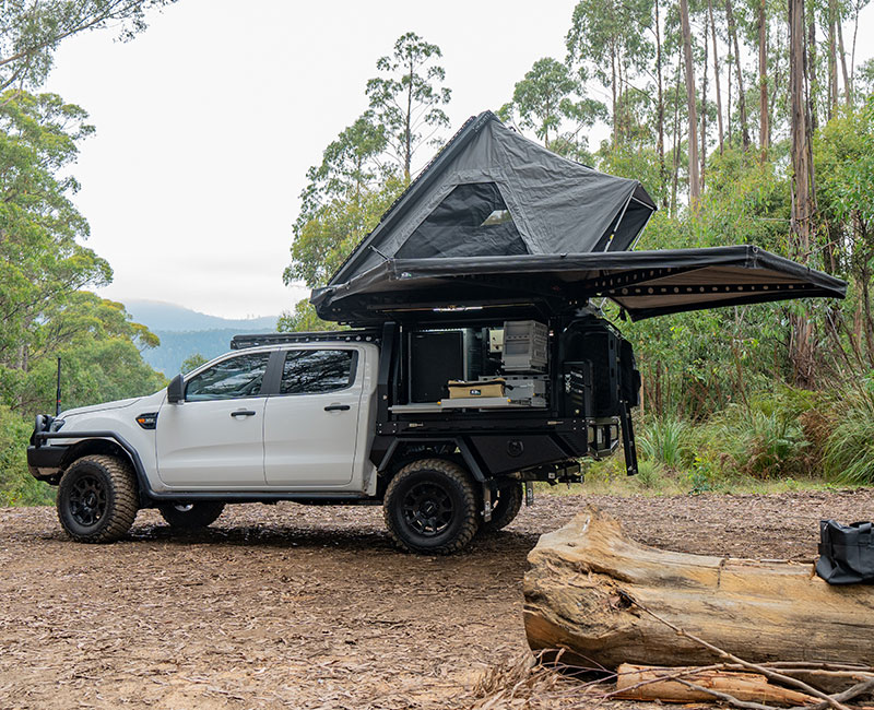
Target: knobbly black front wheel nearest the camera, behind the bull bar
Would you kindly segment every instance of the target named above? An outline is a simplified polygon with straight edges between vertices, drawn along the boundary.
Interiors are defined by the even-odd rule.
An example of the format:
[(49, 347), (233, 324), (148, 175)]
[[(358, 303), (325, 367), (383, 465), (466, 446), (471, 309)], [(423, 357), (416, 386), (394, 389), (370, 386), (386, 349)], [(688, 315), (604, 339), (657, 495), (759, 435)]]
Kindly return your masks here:
[(78, 459), (58, 486), (58, 520), (81, 543), (111, 543), (137, 517), (137, 476), (130, 463), (110, 455)]

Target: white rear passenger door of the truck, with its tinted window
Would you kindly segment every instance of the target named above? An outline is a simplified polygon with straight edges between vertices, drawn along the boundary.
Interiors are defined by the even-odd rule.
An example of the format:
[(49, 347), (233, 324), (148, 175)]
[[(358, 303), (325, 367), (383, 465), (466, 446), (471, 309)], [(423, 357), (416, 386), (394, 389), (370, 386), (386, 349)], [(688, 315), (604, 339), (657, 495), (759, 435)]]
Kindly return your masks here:
[(342, 488), (352, 483), (364, 391), (364, 351), (285, 353), (279, 392), (264, 412), (264, 474), (271, 486)]

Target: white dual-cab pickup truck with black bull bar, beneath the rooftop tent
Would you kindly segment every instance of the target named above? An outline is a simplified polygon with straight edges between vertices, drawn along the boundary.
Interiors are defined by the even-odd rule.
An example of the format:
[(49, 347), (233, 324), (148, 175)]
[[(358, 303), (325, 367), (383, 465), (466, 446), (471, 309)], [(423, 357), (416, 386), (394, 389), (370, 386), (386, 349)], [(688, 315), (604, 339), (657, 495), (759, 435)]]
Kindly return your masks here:
[[(538, 439), (571, 429), (547, 426), (543, 409), (391, 412), (380, 392), (393, 389), (388, 365), (409, 356), (409, 343), (391, 326), (250, 336), (152, 395), (37, 416), (31, 472), (58, 486), (60, 522), (81, 542), (119, 539), (146, 507), (191, 529), (226, 504), (294, 500), (382, 504), (397, 543), (430, 554), (508, 524), (524, 482), (579, 480), (575, 457), (590, 452), (588, 430), (571, 435), (570, 448), (541, 450)], [(485, 418), (488, 436), (471, 435), (471, 422)], [(602, 425), (601, 449), (615, 448), (616, 419)], [(495, 442), (506, 451), (487, 450)]]

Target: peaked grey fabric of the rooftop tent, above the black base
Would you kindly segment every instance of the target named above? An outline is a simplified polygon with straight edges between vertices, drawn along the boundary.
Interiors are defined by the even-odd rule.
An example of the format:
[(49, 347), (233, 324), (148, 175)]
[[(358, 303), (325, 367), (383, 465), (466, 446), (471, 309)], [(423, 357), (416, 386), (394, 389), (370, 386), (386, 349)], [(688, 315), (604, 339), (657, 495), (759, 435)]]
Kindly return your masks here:
[[(458, 199), (464, 189), (466, 201)], [(509, 222), (486, 223), (488, 215), (480, 215), (495, 202), (509, 212)], [(470, 119), (425, 168), (329, 286), (394, 258), (624, 250), (654, 210), (638, 180), (563, 158), (485, 111)], [(468, 223), (441, 233), (428, 228), (429, 221), (451, 222), (453, 213)], [(474, 216), (483, 221), (474, 224)]]

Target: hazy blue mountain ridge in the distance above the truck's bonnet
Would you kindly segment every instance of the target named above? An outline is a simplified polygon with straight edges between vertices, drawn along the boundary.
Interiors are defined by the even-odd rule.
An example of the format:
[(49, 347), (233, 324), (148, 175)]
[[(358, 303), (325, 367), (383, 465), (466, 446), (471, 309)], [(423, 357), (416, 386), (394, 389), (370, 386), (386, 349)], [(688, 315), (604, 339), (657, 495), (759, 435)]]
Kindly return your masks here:
[(158, 347), (143, 352), (143, 359), (167, 377), (179, 372), (191, 355), (199, 354), (209, 360), (226, 353), (234, 335), (275, 331), (279, 318), (220, 318), (154, 300), (126, 301), (125, 307), (134, 321), (161, 339)]

